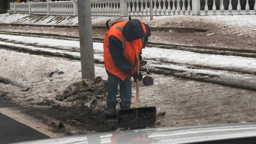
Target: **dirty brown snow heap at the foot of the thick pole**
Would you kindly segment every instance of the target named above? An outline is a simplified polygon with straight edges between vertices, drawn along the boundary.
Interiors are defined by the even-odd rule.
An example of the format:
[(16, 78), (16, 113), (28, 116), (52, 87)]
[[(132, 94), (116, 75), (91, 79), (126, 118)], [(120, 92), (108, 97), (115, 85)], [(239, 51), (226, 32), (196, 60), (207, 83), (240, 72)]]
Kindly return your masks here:
[(61, 94), (56, 96), (56, 100), (72, 102), (73, 106), (85, 106), (96, 111), (103, 111), (106, 108), (107, 81), (100, 76), (94, 81), (84, 79), (69, 85)]

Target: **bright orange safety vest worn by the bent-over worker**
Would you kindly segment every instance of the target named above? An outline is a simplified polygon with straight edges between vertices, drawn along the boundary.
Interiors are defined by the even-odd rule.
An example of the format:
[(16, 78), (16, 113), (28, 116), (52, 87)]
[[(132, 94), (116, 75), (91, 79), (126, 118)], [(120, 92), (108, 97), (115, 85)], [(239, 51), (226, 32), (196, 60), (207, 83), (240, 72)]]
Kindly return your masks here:
[[(111, 53), (109, 51), (109, 37), (115, 36), (123, 43), (124, 57), (126, 60), (128, 60), (131, 66), (134, 66), (134, 68), (136, 68), (136, 62), (139, 59), (139, 54), (141, 52), (142, 44), (144, 40), (144, 37), (142, 37), (141, 39), (136, 39), (130, 42), (130, 41), (127, 41), (124, 36), (122, 36), (122, 29), (127, 22), (128, 21), (118, 22), (113, 26), (111, 26), (111, 28), (106, 32), (106, 35), (104, 38), (104, 44), (103, 44), (104, 65), (106, 70), (114, 74), (115, 76), (119, 77), (122, 81), (124, 81), (129, 74), (121, 71), (115, 66)], [(146, 34), (146, 28), (144, 24), (142, 24), (142, 28)]]

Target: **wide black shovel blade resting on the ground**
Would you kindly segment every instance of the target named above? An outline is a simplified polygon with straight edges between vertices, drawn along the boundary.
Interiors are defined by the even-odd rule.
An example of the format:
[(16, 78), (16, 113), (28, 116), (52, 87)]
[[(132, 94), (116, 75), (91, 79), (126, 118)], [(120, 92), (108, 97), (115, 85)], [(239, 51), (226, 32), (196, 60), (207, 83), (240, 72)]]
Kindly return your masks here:
[(121, 109), (116, 128), (143, 129), (156, 122), (156, 107)]

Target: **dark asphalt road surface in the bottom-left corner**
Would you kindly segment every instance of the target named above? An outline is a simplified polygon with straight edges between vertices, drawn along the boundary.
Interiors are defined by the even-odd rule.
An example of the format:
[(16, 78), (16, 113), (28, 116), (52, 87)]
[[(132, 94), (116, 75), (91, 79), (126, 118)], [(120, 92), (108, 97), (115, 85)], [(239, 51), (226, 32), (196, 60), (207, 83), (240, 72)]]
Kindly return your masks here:
[[(0, 108), (11, 107), (15, 107), (14, 104), (7, 103), (6, 99), (0, 97)], [(17, 143), (44, 138), (49, 137), (0, 113), (0, 144)]]

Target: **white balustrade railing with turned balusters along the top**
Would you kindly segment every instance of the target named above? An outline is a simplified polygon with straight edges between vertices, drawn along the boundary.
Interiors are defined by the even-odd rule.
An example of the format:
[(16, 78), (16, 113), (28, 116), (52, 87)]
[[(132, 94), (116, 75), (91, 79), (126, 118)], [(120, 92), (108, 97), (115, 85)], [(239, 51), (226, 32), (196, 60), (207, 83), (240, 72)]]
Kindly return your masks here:
[[(225, 0), (226, 1), (226, 0)], [(153, 0), (153, 15), (232, 15), (232, 14), (256, 14), (256, 0)], [(252, 2), (253, 5), (252, 5)], [(232, 5), (233, 4), (233, 5)], [(195, 7), (194, 7), (194, 6)], [(228, 5), (228, 6), (227, 6)], [(242, 6), (241, 6), (242, 5)], [(235, 10), (233, 10), (235, 8)], [(251, 10), (250, 10), (251, 8)], [(194, 11), (193, 11), (194, 9)], [(203, 11), (200, 11), (202, 10)], [(254, 12), (252, 11), (254, 10)], [(10, 3), (10, 12), (50, 15), (77, 15), (77, 2), (51, 1)], [(150, 0), (91, 0), (92, 15), (101, 16), (149, 16)]]

